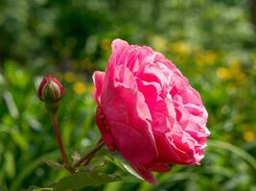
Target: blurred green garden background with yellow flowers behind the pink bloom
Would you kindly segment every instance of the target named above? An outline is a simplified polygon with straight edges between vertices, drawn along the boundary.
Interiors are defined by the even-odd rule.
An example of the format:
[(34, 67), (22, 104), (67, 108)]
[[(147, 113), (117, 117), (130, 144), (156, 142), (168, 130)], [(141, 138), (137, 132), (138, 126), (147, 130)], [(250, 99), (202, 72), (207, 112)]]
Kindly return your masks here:
[[(105, 70), (114, 38), (172, 60), (200, 93), (212, 135), (200, 166), (174, 166), (156, 175), (157, 185), (131, 180), (83, 190), (255, 191), (255, 0), (1, 0), (0, 190), (47, 187), (67, 174), (45, 162), (60, 159), (35, 93), (44, 74), (67, 89), (58, 117), (68, 153), (95, 145), (91, 75)], [(104, 168), (127, 175), (111, 162)]]

